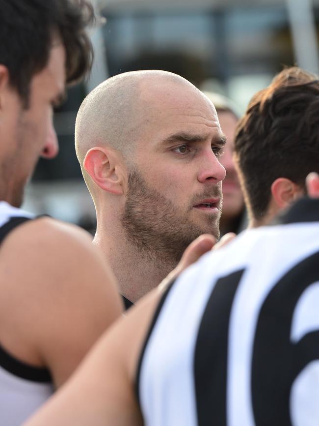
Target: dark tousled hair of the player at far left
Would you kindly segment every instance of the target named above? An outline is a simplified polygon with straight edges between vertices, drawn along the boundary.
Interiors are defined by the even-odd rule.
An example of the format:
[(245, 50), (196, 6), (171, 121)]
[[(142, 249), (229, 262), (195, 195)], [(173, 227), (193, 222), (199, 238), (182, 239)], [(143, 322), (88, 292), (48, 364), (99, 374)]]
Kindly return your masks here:
[(0, 63), (26, 105), (31, 78), (46, 66), (54, 42), (65, 47), (68, 83), (90, 69), (85, 27), (93, 17), (87, 0), (0, 0)]

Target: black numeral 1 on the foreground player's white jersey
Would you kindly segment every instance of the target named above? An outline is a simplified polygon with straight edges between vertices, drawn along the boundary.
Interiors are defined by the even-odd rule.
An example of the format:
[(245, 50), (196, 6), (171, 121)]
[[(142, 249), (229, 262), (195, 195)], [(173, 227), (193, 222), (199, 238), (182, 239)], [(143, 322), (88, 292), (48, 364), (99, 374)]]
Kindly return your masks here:
[(218, 279), (199, 327), (194, 381), (199, 426), (226, 426), (228, 328), (232, 304), (244, 270)]

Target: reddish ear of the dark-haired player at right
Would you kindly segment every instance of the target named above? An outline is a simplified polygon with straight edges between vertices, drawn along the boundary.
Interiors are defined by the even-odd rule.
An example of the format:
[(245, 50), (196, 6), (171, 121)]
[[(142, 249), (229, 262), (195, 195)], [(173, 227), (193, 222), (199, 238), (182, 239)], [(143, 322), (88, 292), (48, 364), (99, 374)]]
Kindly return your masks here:
[(277, 207), (284, 209), (297, 198), (304, 195), (304, 191), (290, 179), (278, 178), (271, 185), (271, 194)]

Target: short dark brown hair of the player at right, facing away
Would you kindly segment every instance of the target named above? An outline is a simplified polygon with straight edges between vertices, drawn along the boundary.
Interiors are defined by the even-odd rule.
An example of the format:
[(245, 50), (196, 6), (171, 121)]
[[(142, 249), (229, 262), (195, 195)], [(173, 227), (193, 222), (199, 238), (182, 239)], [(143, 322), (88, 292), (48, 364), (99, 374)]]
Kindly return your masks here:
[(235, 160), (255, 220), (266, 213), (271, 184), (304, 187), (319, 172), (319, 81), (298, 67), (284, 69), (251, 99), (237, 126)]

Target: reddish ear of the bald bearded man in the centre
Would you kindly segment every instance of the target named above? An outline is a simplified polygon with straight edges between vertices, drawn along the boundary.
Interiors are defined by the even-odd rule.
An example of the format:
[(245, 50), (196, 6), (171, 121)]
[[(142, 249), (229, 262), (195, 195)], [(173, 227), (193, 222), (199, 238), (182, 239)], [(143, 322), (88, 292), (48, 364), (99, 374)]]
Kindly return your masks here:
[(124, 177), (116, 152), (102, 147), (91, 148), (83, 166), (100, 188), (112, 194), (123, 194)]

